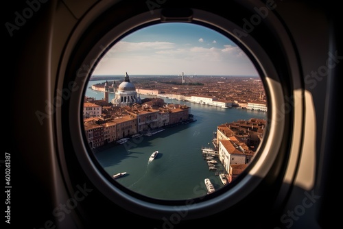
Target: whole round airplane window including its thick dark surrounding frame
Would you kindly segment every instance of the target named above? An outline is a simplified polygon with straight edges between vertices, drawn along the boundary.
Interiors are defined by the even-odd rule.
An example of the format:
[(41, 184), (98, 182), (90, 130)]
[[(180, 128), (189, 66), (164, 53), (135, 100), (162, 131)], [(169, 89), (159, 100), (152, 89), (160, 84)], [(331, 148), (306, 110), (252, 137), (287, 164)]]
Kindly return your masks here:
[(70, 96), (56, 112), (63, 171), (155, 219), (175, 207), (199, 218), (281, 189), (303, 133), (296, 53), (282, 23), (270, 12), (246, 31), (238, 14), (153, 12), (119, 23), (108, 10), (71, 36), (57, 90)]

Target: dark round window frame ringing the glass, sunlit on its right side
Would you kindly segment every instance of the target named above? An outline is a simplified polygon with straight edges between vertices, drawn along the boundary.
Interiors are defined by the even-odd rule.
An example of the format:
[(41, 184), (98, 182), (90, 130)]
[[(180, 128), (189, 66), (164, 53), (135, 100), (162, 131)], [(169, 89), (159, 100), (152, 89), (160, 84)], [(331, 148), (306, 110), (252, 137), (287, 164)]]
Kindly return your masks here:
[[(192, 12), (193, 23), (216, 28), (215, 30), (225, 32), (226, 35), (230, 34), (235, 37), (233, 31), (235, 31), (235, 29), (242, 29), (237, 24), (228, 21), (228, 19), (223, 18), (222, 16), (218, 16), (217, 14), (198, 9), (192, 9)], [(94, 17), (95, 15), (90, 16), (90, 18)], [(266, 21), (266, 23), (270, 22), (270, 20)], [(120, 40), (123, 36), (134, 31), (134, 29), (139, 29), (141, 27), (151, 25), (152, 23), (161, 23), (161, 10), (154, 10), (154, 14), (151, 14), (149, 11), (143, 12), (119, 23), (110, 29), (105, 36), (97, 39), (97, 43), (95, 43), (91, 49), (88, 48), (87, 51), (85, 50), (84, 45), (76, 45), (78, 41), (82, 39), (86, 40), (84, 36), (72, 37), (71, 42), (66, 47), (65, 56), (61, 61), (61, 71), (58, 77), (58, 89), (62, 90), (62, 88), (66, 88), (68, 85), (70, 86), (70, 84), (66, 84), (66, 81), (74, 82), (74, 85), (76, 84), (77, 86), (80, 86), (80, 88), (85, 88), (86, 78), (84, 76), (87, 75), (87, 77), (89, 77), (92, 68), (90, 67), (88, 71), (82, 71), (81, 75), (78, 75), (78, 70), (81, 69), (80, 67), (82, 64), (95, 66), (97, 61), (101, 60), (104, 55), (104, 50), (99, 51), (99, 47), (108, 47), (110, 44), (113, 44), (114, 41)], [(278, 21), (276, 21), (276, 23), (278, 23)], [(275, 27), (275, 25), (272, 26)], [(82, 23), (80, 23), (79, 27), (82, 30)], [(287, 35), (287, 32), (285, 32), (283, 27), (280, 27), (279, 30), (281, 30), (281, 35)], [(87, 32), (82, 34), (87, 34)], [(280, 39), (283, 40), (284, 44), (292, 47), (292, 42), (289, 37), (285, 36), (281, 38), (281, 35), (279, 36)], [(71, 94), (70, 99), (67, 101), (67, 106), (57, 108), (58, 112), (56, 112), (56, 129), (62, 130), (62, 134), (58, 134), (58, 145), (60, 149), (59, 158), (64, 173), (71, 173), (70, 165), (67, 165), (68, 156), (66, 152), (67, 147), (72, 147), (73, 152), (75, 153), (73, 155), (74, 161), (75, 158), (77, 158), (80, 167), (83, 169), (83, 172), (86, 174), (88, 179), (109, 200), (132, 211), (133, 213), (155, 219), (161, 219), (165, 215), (175, 213), (176, 206), (180, 211), (187, 211), (187, 219), (212, 215), (226, 208), (235, 206), (235, 204), (244, 200), (248, 195), (250, 195), (250, 193), (257, 189), (257, 186), (259, 186), (261, 180), (265, 177), (271, 177), (274, 179), (276, 179), (276, 177), (281, 177), (281, 179), (285, 180), (285, 166), (281, 165), (281, 160), (288, 158), (290, 148), (296, 149), (298, 146), (292, 145), (292, 138), (294, 138), (294, 133), (301, 132), (302, 124), (298, 123), (296, 128), (291, 128), (290, 130), (287, 129), (287, 125), (289, 125), (289, 123), (293, 123), (293, 119), (295, 119), (295, 117), (298, 122), (301, 122), (302, 113), (298, 110), (292, 110), (288, 113), (282, 112), (282, 110), (280, 112), (278, 108), (281, 108), (284, 105), (285, 97), (289, 96), (285, 95), (283, 92), (287, 90), (293, 92), (294, 88), (301, 84), (296, 80), (298, 79), (298, 77), (296, 77), (298, 74), (297, 64), (296, 62), (294, 63), (290, 61), (292, 60), (292, 57), (296, 57), (296, 54), (292, 52), (293, 49), (287, 51), (288, 53), (286, 56), (287, 60), (289, 60), (287, 64), (289, 64), (289, 73), (292, 73), (293, 76), (293, 85), (289, 86), (291, 88), (287, 88), (285, 90), (285, 84), (281, 84), (282, 80), (280, 80), (280, 75), (274, 68), (272, 60), (268, 54), (265, 53), (263, 47), (257, 43), (254, 37), (248, 34), (248, 36), (243, 36), (241, 38), (236, 37), (236, 40), (241, 44), (241, 47), (246, 50), (246, 53), (249, 53), (249, 56), (255, 60), (255, 64), (258, 64), (258, 69), (260, 69), (261, 74), (260, 77), (263, 77), (265, 91), (268, 95), (269, 122), (268, 131), (265, 132), (266, 136), (258, 149), (259, 153), (257, 154), (257, 158), (252, 160), (253, 165), (251, 165), (249, 169), (246, 169), (244, 176), (237, 179), (237, 182), (235, 182), (235, 185), (232, 188), (229, 190), (223, 189), (217, 191), (215, 195), (211, 195), (211, 197), (206, 196), (200, 201), (185, 200), (182, 202), (168, 202), (164, 200), (153, 200), (144, 196), (137, 196), (137, 193), (130, 192), (121, 185), (113, 184), (113, 182), (110, 182), (110, 180), (104, 176), (104, 173), (99, 171), (98, 165), (95, 165), (94, 158), (88, 154), (87, 146), (84, 141), (84, 134), (82, 133), (83, 127), (80, 122), (82, 120), (80, 104), (82, 104), (84, 91), (78, 89), (73, 91)], [(84, 58), (81, 62), (75, 62), (71, 56), (84, 56)], [(69, 75), (69, 78), (65, 77), (64, 74)], [(71, 76), (70, 78), (70, 75), (74, 75), (74, 77)], [(301, 93), (301, 90), (299, 93)], [(301, 109), (303, 106), (303, 100), (300, 97), (293, 97), (293, 99), (296, 100), (296, 103), (299, 105), (298, 109)], [(75, 114), (79, 114), (79, 116)], [(68, 120), (67, 123), (69, 125), (64, 124), (66, 123), (65, 120)], [(69, 134), (67, 134), (67, 132), (69, 132)], [(291, 143), (285, 141), (285, 138), (282, 137), (284, 135), (277, 136), (278, 132), (282, 132), (284, 135), (289, 134), (287, 139), (290, 139)], [(66, 141), (68, 143), (64, 144)], [(287, 147), (282, 148), (285, 145)], [(280, 174), (271, 174), (275, 171), (279, 171)], [(292, 174), (289, 176), (292, 178)], [(289, 179), (292, 180), (291, 178)], [(67, 180), (65, 182), (69, 184)], [(71, 191), (73, 190), (70, 184), (69, 188)]]

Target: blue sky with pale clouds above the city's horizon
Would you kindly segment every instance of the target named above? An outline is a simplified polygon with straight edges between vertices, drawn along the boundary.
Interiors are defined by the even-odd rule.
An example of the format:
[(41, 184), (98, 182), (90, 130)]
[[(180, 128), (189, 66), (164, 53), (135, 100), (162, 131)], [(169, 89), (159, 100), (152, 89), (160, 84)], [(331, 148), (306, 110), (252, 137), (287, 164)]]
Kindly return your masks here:
[(258, 73), (232, 40), (202, 25), (161, 23), (119, 40), (93, 75), (248, 75)]

